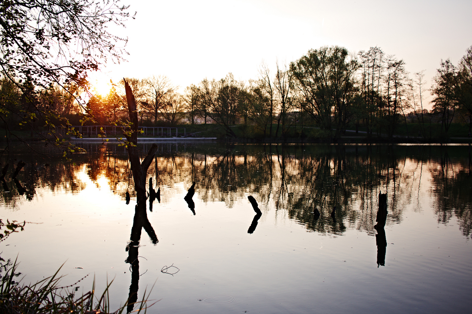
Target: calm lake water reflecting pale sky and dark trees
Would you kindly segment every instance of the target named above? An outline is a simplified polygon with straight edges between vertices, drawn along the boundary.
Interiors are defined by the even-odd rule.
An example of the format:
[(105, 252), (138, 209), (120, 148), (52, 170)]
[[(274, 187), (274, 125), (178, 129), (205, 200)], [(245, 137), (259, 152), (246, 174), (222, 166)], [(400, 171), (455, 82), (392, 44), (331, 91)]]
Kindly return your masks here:
[[(37, 224), (0, 249), (2, 258), (18, 256), (26, 283), (65, 263), (63, 285), (88, 274), (76, 293), (89, 291), (93, 276), (101, 291), (108, 278), (118, 307), (130, 291), (142, 298), (153, 286), (150, 298), (160, 301), (150, 313), (161, 314), (465, 313), (472, 306), (468, 145), (160, 143), (148, 171), (160, 202), (152, 212), (148, 204), (151, 228), (139, 244), (130, 241), (135, 197), (126, 152), (80, 145), (89, 153), (70, 162), (10, 153), (27, 164), (16, 182), (7, 179), (0, 215)], [(194, 212), (184, 200), (192, 182)], [(373, 228), (380, 192), (387, 193), (385, 238)], [(165, 273), (164, 266), (175, 267)]]

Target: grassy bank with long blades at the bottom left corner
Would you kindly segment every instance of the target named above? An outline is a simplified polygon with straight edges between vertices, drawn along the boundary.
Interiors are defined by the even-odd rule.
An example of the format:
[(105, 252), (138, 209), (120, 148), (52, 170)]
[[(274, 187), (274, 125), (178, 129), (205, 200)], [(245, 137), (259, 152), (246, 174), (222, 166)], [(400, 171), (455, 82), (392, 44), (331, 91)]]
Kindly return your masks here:
[[(72, 287), (82, 281), (66, 286), (59, 286), (62, 276), (58, 277), (58, 271), (51, 277), (45, 278), (35, 284), (21, 285), (14, 279), (21, 273), (17, 273), (17, 261), (14, 263), (8, 260), (7, 264), (2, 265), (0, 269), (0, 313), (4, 314), (23, 314), (23, 313), (77, 313), (77, 314), (99, 314), (99, 313), (115, 313), (120, 314), (128, 306), (128, 301), (120, 306), (115, 312), (110, 312), (110, 295), (109, 288), (113, 280), (109, 283), (107, 280), (107, 288), (101, 295), (95, 294), (95, 278), (93, 279), (92, 290), (76, 297)], [(8, 268), (9, 267), (9, 268)], [(2, 276), (2, 272), (5, 275)], [(134, 303), (136, 309), (134, 312), (140, 313), (152, 304), (148, 304), (149, 295), (152, 289), (147, 293), (144, 291), (141, 301)], [(157, 301), (156, 301), (157, 302)]]

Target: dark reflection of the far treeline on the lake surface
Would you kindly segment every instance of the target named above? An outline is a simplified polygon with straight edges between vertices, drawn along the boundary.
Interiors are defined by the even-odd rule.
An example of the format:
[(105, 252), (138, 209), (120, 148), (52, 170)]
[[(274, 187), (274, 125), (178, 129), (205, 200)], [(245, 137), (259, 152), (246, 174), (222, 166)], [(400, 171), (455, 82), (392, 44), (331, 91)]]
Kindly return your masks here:
[[(135, 192), (124, 149), (83, 146), (93, 153), (74, 154), (72, 162), (48, 161), (49, 167), (40, 158), (21, 155), (24, 170), (11, 184), (7, 175), (2, 185), (10, 192), (1, 193), (0, 201), (14, 207), (17, 201), (34, 199), (41, 188), (78, 193), (85, 187), (79, 175), (84, 170), (97, 187), (109, 188), (128, 202)], [(148, 147), (141, 148), (146, 152)], [(183, 192), (178, 185), (198, 182), (194, 193), (203, 202), (223, 201), (231, 208), (253, 194), (261, 209), (275, 209), (278, 217), (294, 219), (308, 231), (342, 234), (354, 228), (374, 235), (380, 190), (389, 194), (387, 225), (401, 222), (405, 205), (422, 190), (435, 198), (439, 223), (456, 217), (463, 234), (470, 236), (471, 164), (467, 146), (164, 143), (149, 169), (150, 209), (152, 195), (160, 202), (160, 188), (155, 192), (155, 187), (177, 194)], [(195, 212), (192, 197), (185, 201)]]

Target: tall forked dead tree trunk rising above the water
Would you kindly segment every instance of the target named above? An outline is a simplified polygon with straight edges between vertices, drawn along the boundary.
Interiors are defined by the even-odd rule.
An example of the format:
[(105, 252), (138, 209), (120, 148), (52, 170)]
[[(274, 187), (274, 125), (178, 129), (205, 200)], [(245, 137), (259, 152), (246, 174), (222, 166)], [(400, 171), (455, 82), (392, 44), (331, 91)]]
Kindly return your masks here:
[(133, 179), (135, 181), (135, 190), (136, 190), (136, 200), (138, 206), (136, 210), (144, 209), (146, 210), (146, 174), (149, 166), (151, 165), (152, 158), (157, 151), (157, 145), (152, 144), (151, 148), (149, 149), (146, 157), (144, 158), (143, 162), (139, 158), (139, 150), (137, 147), (138, 142), (138, 113), (136, 108), (136, 100), (135, 96), (133, 95), (133, 91), (129, 86), (128, 82), (125, 81), (125, 91), (126, 91), (126, 102), (128, 104), (128, 113), (129, 113), (129, 121), (130, 129), (128, 129), (125, 133), (126, 140), (129, 142), (127, 145), (128, 157), (129, 162), (131, 164), (131, 171), (133, 172)]

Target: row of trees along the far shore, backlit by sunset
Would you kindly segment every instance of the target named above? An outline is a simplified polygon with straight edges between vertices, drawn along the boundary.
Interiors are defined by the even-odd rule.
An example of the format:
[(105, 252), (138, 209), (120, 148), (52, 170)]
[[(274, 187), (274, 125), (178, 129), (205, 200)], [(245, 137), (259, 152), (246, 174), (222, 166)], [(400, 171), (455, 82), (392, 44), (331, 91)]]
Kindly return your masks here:
[[(354, 55), (337, 46), (311, 49), (295, 62), (276, 64), (275, 72), (262, 64), (259, 76), (247, 82), (228, 73), (220, 80), (205, 78), (183, 93), (165, 76), (126, 81), (142, 126), (216, 123), (229, 137), (237, 137), (234, 125), (243, 125), (258, 137), (311, 133), (326, 138), (340, 137), (346, 129), (362, 129), (368, 137), (393, 137), (399, 125), (408, 123), (418, 124), (418, 135), (425, 138), (431, 136), (431, 124), (440, 125), (441, 137), (447, 137), (454, 122), (466, 124), (469, 133), (472, 129), (472, 47), (457, 65), (441, 61), (431, 86), (424, 71), (411, 77), (403, 60), (378, 47)], [(113, 124), (127, 117), (123, 86), (120, 81), (108, 95), (92, 94), (82, 110), (70, 96), (79, 95), (78, 90), (67, 93), (51, 87), (35, 102), (70, 116), (76, 124), (82, 123), (81, 115), (92, 118), (85, 123)], [(433, 96), (431, 112), (424, 108), (428, 93)], [(15, 102), (19, 110), (31, 103), (5, 79), (0, 97)], [(294, 132), (297, 125), (301, 128)]]

